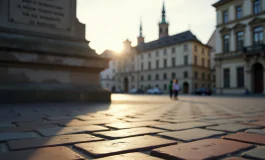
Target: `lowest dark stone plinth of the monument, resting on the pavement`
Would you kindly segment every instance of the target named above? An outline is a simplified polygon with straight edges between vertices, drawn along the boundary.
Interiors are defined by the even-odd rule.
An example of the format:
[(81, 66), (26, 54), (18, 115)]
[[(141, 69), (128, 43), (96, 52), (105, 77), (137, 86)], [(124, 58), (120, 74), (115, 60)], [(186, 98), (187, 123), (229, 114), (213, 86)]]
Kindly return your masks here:
[(68, 85), (8, 85), (0, 89), (0, 103), (110, 102), (110, 92), (100, 87)]

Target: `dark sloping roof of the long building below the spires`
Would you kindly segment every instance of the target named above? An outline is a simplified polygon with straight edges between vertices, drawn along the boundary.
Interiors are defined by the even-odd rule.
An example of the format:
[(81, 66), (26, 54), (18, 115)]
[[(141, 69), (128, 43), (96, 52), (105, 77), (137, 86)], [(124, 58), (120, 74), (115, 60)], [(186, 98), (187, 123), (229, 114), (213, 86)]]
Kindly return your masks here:
[(195, 35), (193, 35), (190, 31), (182, 32), (173, 36), (162, 37), (158, 40), (142, 43), (137, 46), (139, 52), (145, 52), (149, 50), (154, 50), (161, 47), (166, 47), (169, 45), (179, 44), (187, 41), (198, 41), (201, 43)]

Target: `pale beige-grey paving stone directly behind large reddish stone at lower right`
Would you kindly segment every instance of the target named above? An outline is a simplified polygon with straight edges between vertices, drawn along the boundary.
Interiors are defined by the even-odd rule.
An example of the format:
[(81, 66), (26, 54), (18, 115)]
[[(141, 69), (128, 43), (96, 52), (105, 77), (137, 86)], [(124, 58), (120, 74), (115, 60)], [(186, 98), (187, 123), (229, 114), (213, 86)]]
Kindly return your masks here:
[(184, 131), (176, 131), (176, 132), (164, 132), (159, 133), (160, 136), (165, 136), (177, 140), (181, 140), (184, 142), (190, 142), (194, 140), (199, 140), (203, 138), (210, 138), (214, 136), (222, 136), (226, 133), (220, 131), (211, 131), (206, 129), (194, 128)]

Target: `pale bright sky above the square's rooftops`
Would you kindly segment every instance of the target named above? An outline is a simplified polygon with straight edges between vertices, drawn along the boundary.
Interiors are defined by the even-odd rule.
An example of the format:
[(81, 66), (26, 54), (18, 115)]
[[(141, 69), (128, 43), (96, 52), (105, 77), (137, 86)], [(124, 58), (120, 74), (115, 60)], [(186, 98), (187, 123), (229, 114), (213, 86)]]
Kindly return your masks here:
[[(217, 0), (164, 0), (169, 35), (191, 30), (207, 43), (216, 25)], [(158, 39), (163, 0), (77, 0), (77, 18), (86, 24), (89, 46), (101, 54), (106, 49), (121, 51), (123, 41), (137, 44), (140, 20), (145, 42)]]

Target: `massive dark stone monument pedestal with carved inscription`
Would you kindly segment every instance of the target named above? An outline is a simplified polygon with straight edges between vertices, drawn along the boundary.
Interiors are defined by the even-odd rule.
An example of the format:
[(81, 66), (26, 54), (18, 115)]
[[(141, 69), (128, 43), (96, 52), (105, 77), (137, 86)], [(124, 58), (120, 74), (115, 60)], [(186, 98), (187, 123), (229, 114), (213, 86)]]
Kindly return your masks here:
[(110, 101), (76, 0), (0, 0), (0, 102)]

